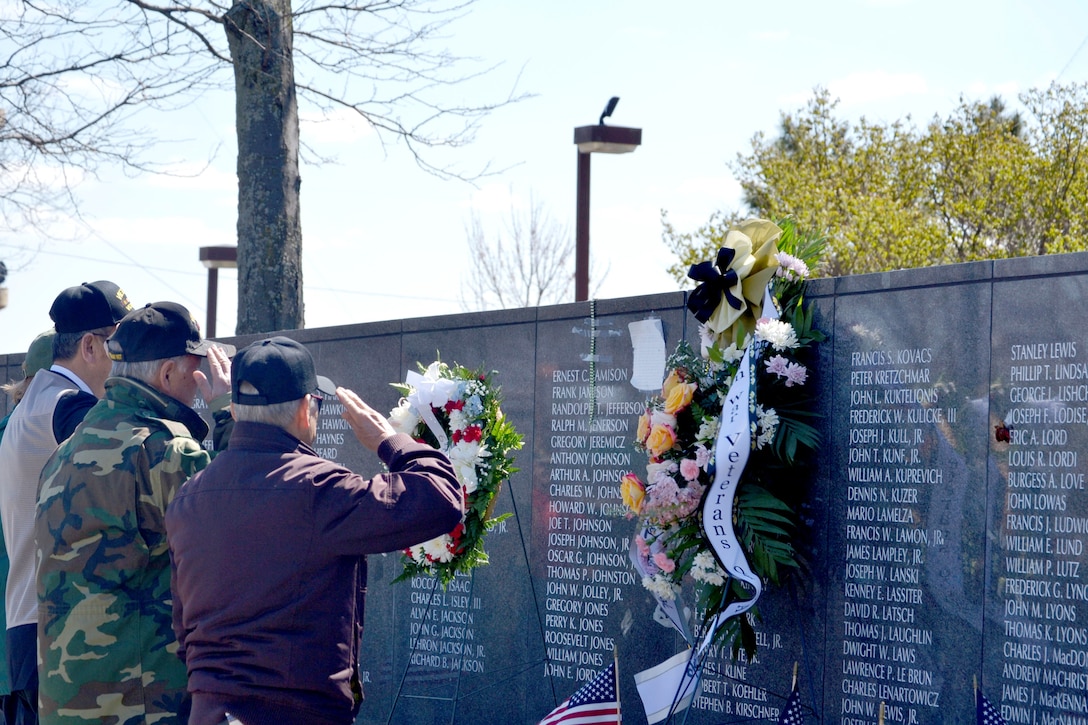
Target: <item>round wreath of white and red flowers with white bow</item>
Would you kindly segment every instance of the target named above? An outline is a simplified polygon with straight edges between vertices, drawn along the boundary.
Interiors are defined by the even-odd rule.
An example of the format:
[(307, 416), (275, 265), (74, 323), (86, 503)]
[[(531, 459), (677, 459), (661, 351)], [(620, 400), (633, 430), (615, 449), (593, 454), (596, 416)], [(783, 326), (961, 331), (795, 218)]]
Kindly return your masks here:
[(469, 370), (435, 360), (404, 383), (392, 383), (404, 397), (390, 413), (401, 433), (445, 453), (465, 495), (465, 516), (449, 533), (404, 550), (404, 572), (394, 579), (437, 577), (445, 588), (458, 573), (487, 563), (484, 536), (509, 514), (492, 517), (498, 490), (515, 472), (512, 451), (522, 437), (503, 415), (494, 372)]

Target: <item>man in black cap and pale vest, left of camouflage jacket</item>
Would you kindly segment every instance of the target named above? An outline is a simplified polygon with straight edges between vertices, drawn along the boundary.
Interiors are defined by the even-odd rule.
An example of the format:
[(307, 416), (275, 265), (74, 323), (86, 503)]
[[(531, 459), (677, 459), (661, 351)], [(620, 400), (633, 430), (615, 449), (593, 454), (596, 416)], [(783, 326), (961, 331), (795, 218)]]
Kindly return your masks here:
[(12, 678), (4, 717), (10, 723), (35, 722), (38, 704), (34, 543), (38, 477), (61, 441), (106, 394), (111, 365), (106, 339), (131, 309), (121, 287), (106, 280), (57, 295), (49, 309), (55, 331), (50, 364), (27, 385), (0, 442), (0, 519), (10, 557), (3, 592)]

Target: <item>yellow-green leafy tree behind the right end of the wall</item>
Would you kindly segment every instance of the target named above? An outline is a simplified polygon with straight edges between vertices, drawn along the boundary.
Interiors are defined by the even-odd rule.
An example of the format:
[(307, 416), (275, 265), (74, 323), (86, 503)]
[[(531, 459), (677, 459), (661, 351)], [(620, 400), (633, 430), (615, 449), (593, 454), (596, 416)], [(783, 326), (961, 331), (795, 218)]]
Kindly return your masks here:
[(817, 273), (878, 272), (1088, 248), (1088, 85), (1054, 84), (1004, 101), (960, 99), (923, 127), (837, 114), (821, 89), (783, 113), (774, 138), (756, 134), (737, 173), (746, 210), (716, 213), (664, 239), (689, 265), (713, 258), (732, 221), (791, 218), (827, 239)]

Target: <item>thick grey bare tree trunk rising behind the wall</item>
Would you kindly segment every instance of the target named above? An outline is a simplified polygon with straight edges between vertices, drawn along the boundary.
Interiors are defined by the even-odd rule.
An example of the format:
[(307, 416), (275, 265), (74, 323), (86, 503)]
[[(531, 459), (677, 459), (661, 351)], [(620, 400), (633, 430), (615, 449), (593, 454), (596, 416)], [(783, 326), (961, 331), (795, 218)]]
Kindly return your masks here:
[(238, 135), (238, 322), (304, 327), (298, 105), (290, 0), (235, 0), (224, 17)]

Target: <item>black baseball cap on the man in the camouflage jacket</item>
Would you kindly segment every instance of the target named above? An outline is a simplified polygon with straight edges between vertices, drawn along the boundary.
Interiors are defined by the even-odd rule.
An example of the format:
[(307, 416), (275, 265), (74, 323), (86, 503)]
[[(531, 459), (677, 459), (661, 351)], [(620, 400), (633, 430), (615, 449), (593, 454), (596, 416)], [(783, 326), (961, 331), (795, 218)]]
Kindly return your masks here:
[(234, 354), (234, 345), (202, 340), (200, 325), (185, 307), (161, 302), (128, 312), (106, 341), (106, 349), (112, 360), (145, 362), (181, 355), (207, 357), (213, 344), (227, 356)]

